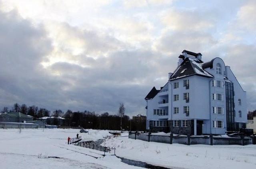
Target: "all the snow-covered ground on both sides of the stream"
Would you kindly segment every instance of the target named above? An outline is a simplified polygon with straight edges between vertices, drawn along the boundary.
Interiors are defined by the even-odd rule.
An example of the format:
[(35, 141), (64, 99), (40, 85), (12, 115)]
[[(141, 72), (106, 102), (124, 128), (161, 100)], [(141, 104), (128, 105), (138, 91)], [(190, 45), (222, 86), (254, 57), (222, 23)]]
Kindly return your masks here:
[[(0, 169), (130, 169), (139, 168), (121, 162), (115, 156), (66, 144), (68, 136), (98, 140), (110, 136), (106, 130), (78, 129), (0, 129)], [(116, 147), (120, 157), (172, 169), (255, 169), (256, 145), (182, 145), (147, 142), (117, 137), (102, 145)], [(85, 155), (87, 154), (87, 155)], [(98, 159), (91, 157), (100, 157)], [(49, 158), (60, 157), (60, 158)]]

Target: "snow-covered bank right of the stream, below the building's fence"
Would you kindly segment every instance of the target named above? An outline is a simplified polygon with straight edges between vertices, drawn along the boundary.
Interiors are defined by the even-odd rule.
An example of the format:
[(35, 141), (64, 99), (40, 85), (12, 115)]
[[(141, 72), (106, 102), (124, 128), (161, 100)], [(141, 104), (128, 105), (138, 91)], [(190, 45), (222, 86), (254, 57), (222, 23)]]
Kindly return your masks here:
[[(122, 136), (128, 136), (123, 134)], [(256, 169), (256, 145), (182, 145), (110, 138), (116, 155), (152, 165), (185, 169)]]

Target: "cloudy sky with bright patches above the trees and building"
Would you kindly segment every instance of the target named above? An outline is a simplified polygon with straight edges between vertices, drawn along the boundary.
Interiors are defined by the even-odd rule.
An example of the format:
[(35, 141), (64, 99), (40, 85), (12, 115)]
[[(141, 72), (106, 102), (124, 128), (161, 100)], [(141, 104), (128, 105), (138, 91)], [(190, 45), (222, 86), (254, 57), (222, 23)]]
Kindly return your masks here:
[(186, 49), (221, 57), (256, 109), (255, 0), (0, 0), (0, 109), (146, 114)]

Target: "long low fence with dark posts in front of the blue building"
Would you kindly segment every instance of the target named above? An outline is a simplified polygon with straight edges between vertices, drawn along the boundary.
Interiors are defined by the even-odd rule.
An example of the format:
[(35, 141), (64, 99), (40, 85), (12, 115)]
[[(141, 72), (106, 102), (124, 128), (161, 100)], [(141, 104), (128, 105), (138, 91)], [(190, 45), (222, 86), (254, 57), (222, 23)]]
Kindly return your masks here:
[(206, 145), (248, 145), (256, 144), (256, 136), (250, 137), (229, 137), (229, 136), (213, 136), (202, 135), (202, 136), (190, 136), (188, 135), (177, 135), (177, 134), (157, 134), (157, 133), (133, 133), (129, 132), (129, 138), (138, 139), (143, 141), (153, 141), (158, 143), (179, 143), (179, 144), (206, 144)]

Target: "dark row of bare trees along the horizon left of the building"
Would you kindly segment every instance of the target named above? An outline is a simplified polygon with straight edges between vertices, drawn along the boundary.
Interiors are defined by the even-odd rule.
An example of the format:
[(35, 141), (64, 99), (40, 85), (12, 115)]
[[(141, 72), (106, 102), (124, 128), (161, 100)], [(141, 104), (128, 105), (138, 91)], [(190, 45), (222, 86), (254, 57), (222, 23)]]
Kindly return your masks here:
[(116, 114), (109, 114), (108, 112), (100, 114), (87, 110), (77, 112), (67, 110), (66, 112), (63, 112), (61, 109), (50, 112), (46, 108), (38, 108), (38, 106), (34, 105), (26, 106), (26, 104), (19, 105), (18, 103), (15, 103), (11, 109), (4, 107), (2, 112), (21, 112), (33, 116), (34, 120), (45, 116), (60, 116), (65, 118), (62, 126), (68, 127), (100, 130), (146, 130), (146, 120), (140, 120), (138, 122), (130, 119), (129, 116), (125, 115), (125, 107), (123, 103), (120, 103)]

